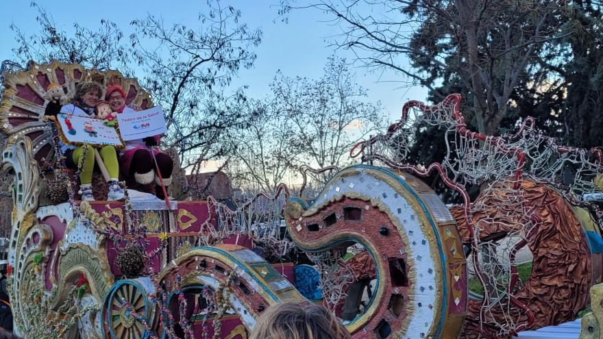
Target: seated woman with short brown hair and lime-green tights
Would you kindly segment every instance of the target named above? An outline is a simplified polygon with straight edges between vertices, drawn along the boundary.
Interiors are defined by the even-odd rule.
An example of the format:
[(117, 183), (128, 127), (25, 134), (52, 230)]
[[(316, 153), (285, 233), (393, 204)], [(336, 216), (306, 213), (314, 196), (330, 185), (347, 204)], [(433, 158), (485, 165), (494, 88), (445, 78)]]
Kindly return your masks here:
[[(72, 114), (75, 116), (95, 117), (95, 107), (99, 102), (103, 90), (101, 86), (95, 82), (81, 82), (75, 89), (75, 96), (72, 103), (64, 105), (61, 108), (61, 113)], [(71, 168), (79, 168), (82, 170), (79, 173), (79, 194), (82, 195), (82, 200), (94, 200), (92, 192), (92, 174), (95, 166), (95, 150), (92, 146), (86, 145), (76, 147), (74, 145), (61, 143), (61, 153), (66, 158), (66, 165)], [(112, 146), (105, 146), (99, 150), (101, 158), (105, 163), (110, 179), (107, 181), (109, 186), (108, 200), (115, 201), (123, 199), (123, 189), (119, 186), (119, 164), (117, 162), (117, 153)], [(84, 155), (85, 154), (85, 155)]]

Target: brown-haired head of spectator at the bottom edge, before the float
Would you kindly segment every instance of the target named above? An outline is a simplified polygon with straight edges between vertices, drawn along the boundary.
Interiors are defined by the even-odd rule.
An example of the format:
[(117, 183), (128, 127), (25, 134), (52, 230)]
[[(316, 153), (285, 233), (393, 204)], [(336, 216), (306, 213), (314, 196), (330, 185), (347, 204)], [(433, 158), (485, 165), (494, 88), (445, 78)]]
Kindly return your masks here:
[(349, 332), (325, 307), (280, 303), (258, 318), (249, 339), (349, 339)]

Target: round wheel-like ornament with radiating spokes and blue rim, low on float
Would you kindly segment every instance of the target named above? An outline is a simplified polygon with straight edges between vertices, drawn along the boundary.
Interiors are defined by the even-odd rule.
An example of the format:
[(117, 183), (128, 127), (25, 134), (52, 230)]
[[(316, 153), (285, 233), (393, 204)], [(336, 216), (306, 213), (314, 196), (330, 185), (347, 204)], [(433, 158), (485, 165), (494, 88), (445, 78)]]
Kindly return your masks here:
[(143, 320), (150, 324), (151, 304), (147, 295), (152, 292), (150, 279), (117, 281), (103, 303), (103, 327), (109, 338), (147, 338)]

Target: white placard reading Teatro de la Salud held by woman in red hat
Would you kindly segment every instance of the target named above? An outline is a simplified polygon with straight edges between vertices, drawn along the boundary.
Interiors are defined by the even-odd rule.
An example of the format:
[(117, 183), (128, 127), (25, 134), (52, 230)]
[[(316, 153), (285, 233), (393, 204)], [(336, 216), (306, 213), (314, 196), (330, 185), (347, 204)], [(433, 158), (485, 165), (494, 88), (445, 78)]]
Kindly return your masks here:
[(167, 131), (160, 107), (132, 113), (117, 114), (119, 133), (123, 140), (136, 140), (157, 136)]

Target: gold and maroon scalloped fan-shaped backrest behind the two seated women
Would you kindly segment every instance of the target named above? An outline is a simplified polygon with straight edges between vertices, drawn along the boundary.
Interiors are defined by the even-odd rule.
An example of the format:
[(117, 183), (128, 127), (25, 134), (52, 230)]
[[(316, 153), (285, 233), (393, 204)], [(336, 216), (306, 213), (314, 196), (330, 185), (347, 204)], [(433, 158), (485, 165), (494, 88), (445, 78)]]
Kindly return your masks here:
[(34, 158), (52, 159), (52, 125), (42, 121), (48, 104), (45, 99), (49, 84), (60, 84), (68, 99), (73, 98), (80, 81), (96, 81), (103, 87), (121, 84), (127, 93), (126, 104), (150, 108), (151, 98), (136, 79), (125, 78), (119, 71), (89, 70), (79, 64), (53, 60), (49, 64), (30, 62), (27, 71), (8, 73), (4, 77), (4, 94), (0, 101), (0, 130), (10, 137), (27, 136), (32, 140)]

